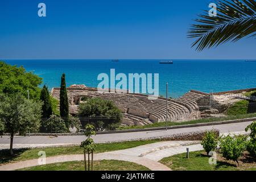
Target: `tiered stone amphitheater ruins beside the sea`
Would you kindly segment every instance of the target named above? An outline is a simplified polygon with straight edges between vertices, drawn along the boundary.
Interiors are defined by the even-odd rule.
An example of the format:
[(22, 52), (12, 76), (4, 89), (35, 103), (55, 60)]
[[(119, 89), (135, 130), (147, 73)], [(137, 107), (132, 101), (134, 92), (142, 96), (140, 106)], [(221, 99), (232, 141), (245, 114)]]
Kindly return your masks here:
[[(83, 102), (82, 98), (100, 97), (104, 100), (113, 101), (122, 111), (123, 125), (147, 125), (150, 123), (166, 121), (166, 98), (164, 97), (158, 97), (156, 100), (148, 100), (148, 96), (145, 94), (98, 92), (97, 88), (90, 88), (85, 85), (71, 85), (67, 88), (67, 93), (69, 112), (72, 115), (77, 114), (78, 106)], [(218, 114), (222, 112), (223, 109), (218, 110), (208, 107), (211, 96), (214, 97), (215, 95), (215, 98), (218, 98), (219, 96), (229, 98), (227, 96), (231, 93), (232, 92), (229, 91), (219, 94), (208, 94), (197, 90), (191, 90), (179, 98), (168, 98), (167, 121), (191, 121), (194, 119), (210, 117), (211, 114)], [(51, 95), (59, 100), (60, 88), (52, 88)], [(232, 99), (240, 100), (239, 98), (234, 97)], [(214, 100), (212, 104), (218, 105), (219, 102)], [(223, 104), (221, 105), (223, 106)]]

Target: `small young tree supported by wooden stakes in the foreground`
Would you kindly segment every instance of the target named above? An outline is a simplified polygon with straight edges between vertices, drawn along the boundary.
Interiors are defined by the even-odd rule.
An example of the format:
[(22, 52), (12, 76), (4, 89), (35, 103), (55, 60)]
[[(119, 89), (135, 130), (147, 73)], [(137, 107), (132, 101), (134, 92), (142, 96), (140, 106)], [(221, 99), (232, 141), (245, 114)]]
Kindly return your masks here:
[(91, 137), (92, 135), (96, 135), (94, 126), (90, 124), (86, 125), (84, 135), (86, 137), (86, 140), (81, 142), (81, 145), (80, 145), (81, 148), (84, 148), (84, 167), (85, 167), (85, 171), (87, 171), (86, 170), (86, 154), (88, 154), (88, 171), (90, 171), (90, 154), (92, 154), (91, 171), (93, 171), (93, 152), (95, 151), (96, 144), (94, 144), (94, 141)]

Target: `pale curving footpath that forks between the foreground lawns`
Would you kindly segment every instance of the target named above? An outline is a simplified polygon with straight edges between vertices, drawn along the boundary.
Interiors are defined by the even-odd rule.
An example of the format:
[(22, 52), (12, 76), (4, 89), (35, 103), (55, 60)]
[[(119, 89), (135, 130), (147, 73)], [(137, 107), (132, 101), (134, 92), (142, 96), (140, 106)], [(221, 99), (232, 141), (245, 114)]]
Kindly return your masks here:
[[(127, 148), (125, 150), (94, 154), (94, 160), (124, 160), (141, 164), (154, 171), (170, 171), (170, 168), (158, 161), (167, 156), (184, 153), (187, 147), (189, 147), (190, 151), (203, 149), (201, 144), (199, 144), (199, 141), (166, 141)], [(84, 155), (59, 155), (46, 158), (46, 164), (80, 160), (84, 160)], [(38, 166), (38, 159), (1, 165), (0, 171), (15, 170), (32, 166)]]

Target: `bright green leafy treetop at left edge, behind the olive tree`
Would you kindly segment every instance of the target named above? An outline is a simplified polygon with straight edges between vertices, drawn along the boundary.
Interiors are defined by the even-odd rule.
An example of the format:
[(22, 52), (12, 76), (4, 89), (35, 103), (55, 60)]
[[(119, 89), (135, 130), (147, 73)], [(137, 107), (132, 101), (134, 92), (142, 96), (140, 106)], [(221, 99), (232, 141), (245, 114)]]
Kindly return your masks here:
[(39, 100), (42, 78), (32, 72), (26, 72), (23, 67), (12, 66), (0, 61), (0, 93), (7, 96), (21, 93), (27, 97), (27, 90), (30, 98)]

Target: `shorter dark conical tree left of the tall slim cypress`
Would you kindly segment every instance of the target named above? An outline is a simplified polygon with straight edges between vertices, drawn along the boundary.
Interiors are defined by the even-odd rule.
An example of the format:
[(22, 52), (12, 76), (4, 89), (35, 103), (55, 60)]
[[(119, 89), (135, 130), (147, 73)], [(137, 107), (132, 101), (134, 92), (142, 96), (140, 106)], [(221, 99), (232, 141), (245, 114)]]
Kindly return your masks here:
[(49, 91), (46, 85), (44, 85), (41, 90), (40, 100), (43, 101), (42, 117), (49, 118), (52, 115), (52, 104), (49, 96)]

